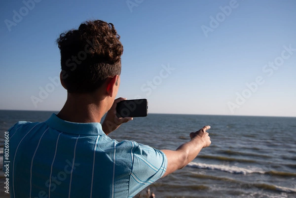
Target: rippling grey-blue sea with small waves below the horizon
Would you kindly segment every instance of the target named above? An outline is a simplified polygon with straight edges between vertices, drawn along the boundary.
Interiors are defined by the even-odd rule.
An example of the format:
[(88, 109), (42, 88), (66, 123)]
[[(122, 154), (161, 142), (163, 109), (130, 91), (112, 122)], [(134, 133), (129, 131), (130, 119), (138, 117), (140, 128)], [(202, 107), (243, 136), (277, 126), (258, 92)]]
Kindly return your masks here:
[[(44, 121), (52, 113), (0, 111), (0, 198), (4, 131), (20, 120)], [(210, 125), (212, 144), (181, 170), (149, 186), (155, 198), (296, 198), (296, 118), (148, 114), (109, 136), (156, 149), (176, 150), (189, 133)], [(143, 190), (135, 198), (145, 198)]]

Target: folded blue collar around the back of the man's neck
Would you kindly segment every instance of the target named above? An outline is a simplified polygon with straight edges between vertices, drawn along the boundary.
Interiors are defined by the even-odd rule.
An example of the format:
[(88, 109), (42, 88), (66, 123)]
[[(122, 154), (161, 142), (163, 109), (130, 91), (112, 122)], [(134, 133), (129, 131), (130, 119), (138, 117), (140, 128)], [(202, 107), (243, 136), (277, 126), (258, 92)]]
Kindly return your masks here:
[(106, 135), (102, 129), (102, 125), (99, 122), (78, 123), (60, 119), (57, 115), (52, 114), (49, 119), (46, 120), (48, 126), (64, 132), (79, 135)]

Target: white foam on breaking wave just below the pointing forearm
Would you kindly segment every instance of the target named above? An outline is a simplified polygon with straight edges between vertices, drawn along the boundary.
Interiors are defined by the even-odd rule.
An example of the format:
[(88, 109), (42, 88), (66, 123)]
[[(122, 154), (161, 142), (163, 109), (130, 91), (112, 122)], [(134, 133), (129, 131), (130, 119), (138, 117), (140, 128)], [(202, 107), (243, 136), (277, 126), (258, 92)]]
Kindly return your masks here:
[(251, 174), (251, 173), (260, 173), (264, 174), (265, 171), (257, 168), (240, 168), (237, 166), (227, 166), (227, 165), (218, 165), (218, 164), (206, 164), (206, 163), (188, 163), (189, 167), (201, 168), (201, 169), (210, 169), (210, 170), (221, 170), (224, 172), (234, 173), (234, 174)]

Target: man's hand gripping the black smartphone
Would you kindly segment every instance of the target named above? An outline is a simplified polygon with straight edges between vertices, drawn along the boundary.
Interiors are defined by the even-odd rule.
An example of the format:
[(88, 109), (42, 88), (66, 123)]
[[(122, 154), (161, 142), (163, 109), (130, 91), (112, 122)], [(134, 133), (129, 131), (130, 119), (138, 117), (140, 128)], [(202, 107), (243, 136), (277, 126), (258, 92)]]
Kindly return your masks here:
[(128, 122), (133, 119), (131, 117), (118, 118), (116, 116), (116, 105), (122, 100), (126, 100), (126, 98), (117, 98), (116, 100), (114, 100), (111, 109), (107, 112), (106, 118), (102, 123), (102, 128), (106, 135), (116, 130), (122, 123)]

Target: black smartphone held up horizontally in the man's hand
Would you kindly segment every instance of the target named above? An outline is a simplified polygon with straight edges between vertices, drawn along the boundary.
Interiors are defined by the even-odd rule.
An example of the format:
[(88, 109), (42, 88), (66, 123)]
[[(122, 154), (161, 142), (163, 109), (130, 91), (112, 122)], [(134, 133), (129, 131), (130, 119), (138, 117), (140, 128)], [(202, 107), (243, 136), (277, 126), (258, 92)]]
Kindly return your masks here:
[(118, 118), (146, 117), (147, 114), (147, 99), (122, 100), (116, 105), (116, 115)]

